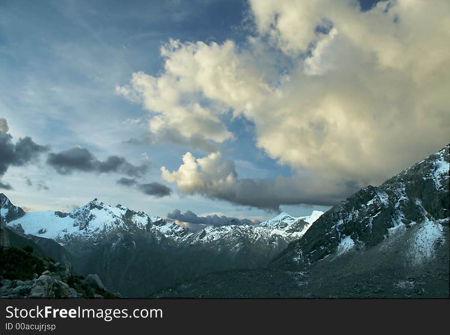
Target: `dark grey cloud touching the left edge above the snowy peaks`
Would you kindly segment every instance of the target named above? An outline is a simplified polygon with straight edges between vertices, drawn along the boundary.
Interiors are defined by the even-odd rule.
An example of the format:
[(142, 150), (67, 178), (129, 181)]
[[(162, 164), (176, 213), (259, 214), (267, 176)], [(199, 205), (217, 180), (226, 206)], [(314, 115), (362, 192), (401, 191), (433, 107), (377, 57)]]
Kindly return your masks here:
[[(0, 118), (0, 178), (10, 166), (25, 166), (35, 162), (39, 155), (49, 151), (49, 146), (36, 144), (30, 137), (19, 138), (14, 144), (8, 133), (6, 119)], [(11, 185), (2, 183), (2, 188), (11, 189)]]

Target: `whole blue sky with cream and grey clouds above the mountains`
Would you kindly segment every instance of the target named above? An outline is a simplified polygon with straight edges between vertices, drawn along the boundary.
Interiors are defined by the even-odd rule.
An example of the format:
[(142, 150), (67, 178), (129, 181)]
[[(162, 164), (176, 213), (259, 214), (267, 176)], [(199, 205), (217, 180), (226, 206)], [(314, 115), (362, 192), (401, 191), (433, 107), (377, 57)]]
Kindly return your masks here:
[(3, 0), (0, 192), (191, 224), (326, 211), (449, 142), (449, 9)]

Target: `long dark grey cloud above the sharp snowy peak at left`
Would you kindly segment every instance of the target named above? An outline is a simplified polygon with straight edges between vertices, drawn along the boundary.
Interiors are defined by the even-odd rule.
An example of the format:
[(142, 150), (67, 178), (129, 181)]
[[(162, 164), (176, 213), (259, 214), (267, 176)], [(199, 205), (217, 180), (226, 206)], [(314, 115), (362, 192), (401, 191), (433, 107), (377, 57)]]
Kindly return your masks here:
[(139, 177), (148, 171), (149, 165), (132, 165), (125, 158), (109, 156), (105, 161), (99, 161), (89, 150), (80, 146), (67, 150), (50, 153), (47, 163), (60, 174), (72, 174), (75, 171), (97, 173), (123, 173), (128, 176)]

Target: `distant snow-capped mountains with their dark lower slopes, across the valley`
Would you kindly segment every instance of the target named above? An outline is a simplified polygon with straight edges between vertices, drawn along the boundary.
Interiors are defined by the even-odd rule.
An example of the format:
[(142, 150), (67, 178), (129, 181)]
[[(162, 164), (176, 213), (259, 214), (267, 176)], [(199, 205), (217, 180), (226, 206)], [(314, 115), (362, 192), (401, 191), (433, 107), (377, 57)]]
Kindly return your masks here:
[[(5, 195), (2, 199), (13, 206)], [(57, 250), (46, 242), (62, 246), (76, 272), (96, 273), (109, 289), (142, 297), (210, 272), (265, 266), (320, 214), (284, 213), (256, 227), (208, 226), (191, 233), (161, 217), (96, 198), (70, 213), (24, 212), (8, 219), (7, 227), (46, 245), (53, 255)]]

